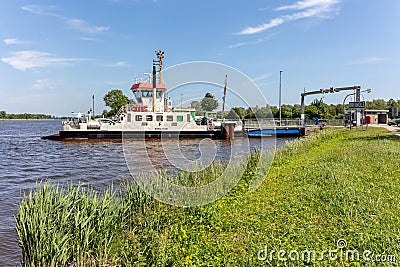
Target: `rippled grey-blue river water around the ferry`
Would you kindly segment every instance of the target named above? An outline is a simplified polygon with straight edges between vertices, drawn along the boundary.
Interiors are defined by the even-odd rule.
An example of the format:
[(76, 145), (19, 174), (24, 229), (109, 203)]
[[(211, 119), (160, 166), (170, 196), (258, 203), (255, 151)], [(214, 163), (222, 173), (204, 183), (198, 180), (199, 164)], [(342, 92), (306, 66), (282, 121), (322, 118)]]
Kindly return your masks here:
[[(125, 142), (80, 141), (57, 142), (41, 140), (41, 136), (57, 133), (61, 128), (59, 120), (43, 121), (0, 121), (0, 266), (20, 264), (21, 251), (15, 231), (14, 215), (24, 192), (34, 189), (37, 182), (90, 184), (96, 189), (104, 189), (122, 181), (132, 181), (133, 176), (146, 172), (149, 166), (141, 164), (137, 157), (137, 168), (128, 170), (124, 157)], [(290, 139), (278, 139), (276, 146), (282, 146)], [(135, 144), (134, 142), (142, 142)], [(152, 168), (178, 171), (171, 166), (164, 140), (130, 141), (132, 147), (146, 148), (145, 154), (151, 159)], [(202, 140), (180, 140), (180, 156), (196, 159), (201, 156)], [(222, 140), (208, 140), (215, 150), (214, 160), (245, 156), (246, 149), (261, 146), (261, 139), (237, 138), (232, 143)], [(167, 144), (167, 145), (165, 145)], [(263, 143), (265, 149), (273, 149), (275, 141)], [(174, 150), (174, 149), (169, 149)], [(143, 155), (143, 151), (137, 151)], [(171, 154), (170, 154), (171, 155)], [(135, 173), (137, 172), (137, 173)]]

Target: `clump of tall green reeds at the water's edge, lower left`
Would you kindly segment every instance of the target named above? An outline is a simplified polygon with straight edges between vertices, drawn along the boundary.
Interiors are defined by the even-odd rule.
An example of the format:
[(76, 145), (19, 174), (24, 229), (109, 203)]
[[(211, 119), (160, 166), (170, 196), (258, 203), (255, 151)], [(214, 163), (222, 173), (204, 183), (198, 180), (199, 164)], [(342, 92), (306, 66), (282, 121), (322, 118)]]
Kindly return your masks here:
[(40, 183), (21, 201), (16, 230), (23, 266), (96, 266), (107, 262), (120, 228), (113, 190)]

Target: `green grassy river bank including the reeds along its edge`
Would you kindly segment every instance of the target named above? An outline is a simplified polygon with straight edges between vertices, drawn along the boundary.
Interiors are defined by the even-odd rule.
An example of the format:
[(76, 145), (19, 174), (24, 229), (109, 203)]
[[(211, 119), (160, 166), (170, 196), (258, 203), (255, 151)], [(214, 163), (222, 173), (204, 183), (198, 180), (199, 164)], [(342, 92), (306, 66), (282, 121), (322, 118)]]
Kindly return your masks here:
[[(363, 252), (398, 257), (398, 136), (326, 129), (288, 143), (248, 192), (256, 163), (253, 155), (227, 196), (197, 208), (160, 203), (134, 185), (116, 193), (40, 185), (16, 215), (26, 265), (374, 266)], [(325, 250), (338, 252), (329, 259)], [(360, 262), (347, 260), (348, 250)], [(316, 252), (311, 263), (304, 251)]]

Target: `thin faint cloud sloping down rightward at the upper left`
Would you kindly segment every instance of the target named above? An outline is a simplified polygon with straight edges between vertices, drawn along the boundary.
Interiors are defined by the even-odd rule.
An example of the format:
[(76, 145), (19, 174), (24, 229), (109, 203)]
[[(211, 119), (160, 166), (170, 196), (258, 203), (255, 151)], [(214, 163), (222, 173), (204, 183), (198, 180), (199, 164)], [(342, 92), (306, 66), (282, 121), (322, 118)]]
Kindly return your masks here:
[(35, 15), (45, 15), (45, 16), (56, 17), (56, 18), (64, 21), (64, 23), (66, 23), (72, 29), (75, 29), (75, 30), (83, 32), (83, 33), (95, 34), (95, 33), (101, 33), (101, 32), (106, 32), (106, 31), (110, 30), (110, 26), (91, 25), (83, 19), (69, 18), (69, 17), (63, 16), (63, 15), (55, 12), (55, 11), (57, 11), (57, 8), (54, 6), (26, 5), (26, 6), (22, 6), (21, 9), (24, 11), (30, 12), (32, 14), (35, 14)]

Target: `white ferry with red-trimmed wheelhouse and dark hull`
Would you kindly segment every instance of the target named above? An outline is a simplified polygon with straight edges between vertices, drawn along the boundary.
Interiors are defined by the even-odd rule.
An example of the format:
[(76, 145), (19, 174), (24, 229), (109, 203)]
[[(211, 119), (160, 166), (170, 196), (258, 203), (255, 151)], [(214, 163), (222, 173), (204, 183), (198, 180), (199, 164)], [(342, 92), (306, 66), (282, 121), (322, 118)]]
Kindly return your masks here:
[(113, 119), (94, 119), (92, 111), (89, 114), (77, 113), (74, 118), (62, 122), (63, 129), (58, 134), (43, 136), (42, 139), (232, 139), (243, 135), (241, 121), (205, 118), (201, 123), (195, 120), (195, 109), (173, 107), (162, 80), (164, 52), (156, 51), (156, 55), (158, 60), (153, 60), (153, 73), (144, 79), (136, 78), (131, 87), (136, 104), (121, 107)]

